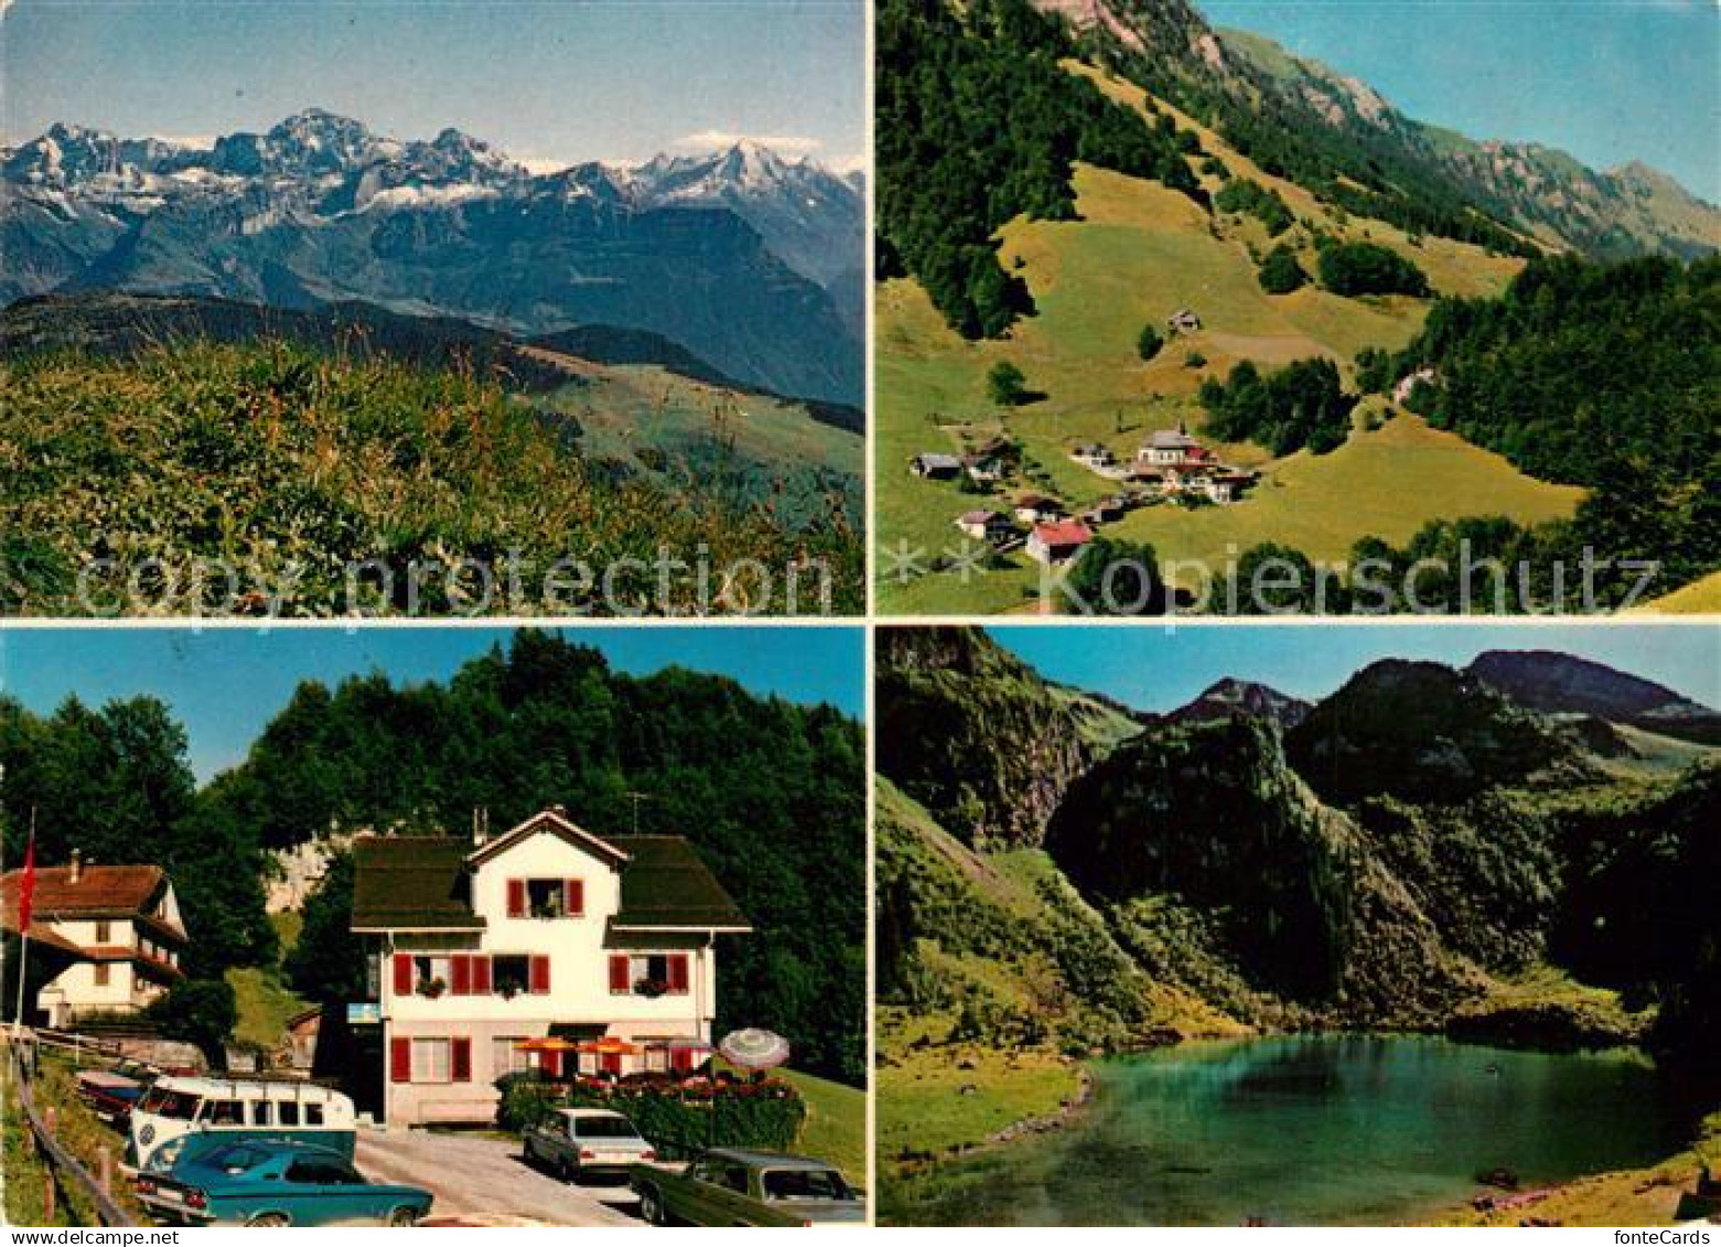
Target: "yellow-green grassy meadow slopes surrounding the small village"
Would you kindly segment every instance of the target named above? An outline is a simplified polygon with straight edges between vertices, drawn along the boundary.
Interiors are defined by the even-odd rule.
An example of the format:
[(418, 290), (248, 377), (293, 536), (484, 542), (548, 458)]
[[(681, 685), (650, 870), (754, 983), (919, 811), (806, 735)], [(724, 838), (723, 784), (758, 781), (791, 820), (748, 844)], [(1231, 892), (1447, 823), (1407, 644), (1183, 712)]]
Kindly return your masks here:
[[(1120, 103), (1143, 112), (1150, 107), (1139, 88), (1072, 62), (1067, 69)], [(1255, 181), (1289, 205), (1299, 224), (1280, 241), (1310, 270), (1317, 234), (1385, 244), (1413, 258), (1442, 294), (1497, 294), (1521, 265), (1477, 246), (1413, 239), (1380, 222), (1348, 218), (1268, 175), (1163, 101), (1151, 107), (1193, 132), (1232, 177)], [(1203, 163), (1189, 160), (1193, 169)], [(1220, 181), (1208, 174), (1203, 184), (1212, 191)], [(1021, 554), (988, 569), (938, 569), (940, 559), (962, 545), (952, 526), (957, 514), (976, 506), (1007, 509), (1022, 488), (1050, 492), (1076, 509), (1093, 504), (1115, 494), (1117, 483), (1072, 463), (1070, 447), (1098, 442), (1127, 461), (1155, 428), (1186, 421), (1200, 432), (1200, 384), (1225, 377), (1237, 361), (1274, 368), (1323, 356), (1351, 378), (1358, 351), (1401, 349), (1427, 316), (1428, 301), (1403, 296), (1339, 298), (1315, 286), (1267, 294), (1251, 249), (1263, 253), (1268, 236), (1251, 215), (1210, 215), (1165, 186), (1083, 163), (1074, 167), (1072, 189), (1076, 220), (1017, 218), (996, 236), (1005, 268), (1027, 284), (1036, 306), (1009, 337), (964, 339), (943, 323), (914, 279), (888, 280), (878, 291), (874, 574), (886, 612), (1036, 609), (1039, 569)], [(1141, 327), (1163, 327), (1181, 308), (1194, 310), (1201, 329), (1172, 337), (1144, 363), (1136, 351)], [(1000, 361), (1021, 368), (1027, 389), (1043, 397), (996, 408), (986, 377)], [(1403, 544), (1428, 521), (1459, 514), (1504, 514), (1532, 525), (1570, 516), (1582, 497), (1578, 488), (1525, 476), (1502, 458), (1415, 418), (1394, 416), (1368, 430), (1384, 415), (1379, 404), (1360, 409), (1358, 433), (1329, 456), (1275, 461), (1253, 445), (1217, 447), (1229, 463), (1263, 473), (1244, 501), (1200, 511), (1132, 511), (1108, 526), (1107, 537), (1151, 542), (1162, 561), (1222, 564), (1265, 540), (1315, 559), (1342, 559), (1365, 537)], [(1005, 482), (991, 499), (907, 471), (916, 454), (960, 452), (1000, 433), (1021, 442), (1033, 471)], [(921, 556), (904, 574), (905, 559), (893, 552), (909, 550)]]

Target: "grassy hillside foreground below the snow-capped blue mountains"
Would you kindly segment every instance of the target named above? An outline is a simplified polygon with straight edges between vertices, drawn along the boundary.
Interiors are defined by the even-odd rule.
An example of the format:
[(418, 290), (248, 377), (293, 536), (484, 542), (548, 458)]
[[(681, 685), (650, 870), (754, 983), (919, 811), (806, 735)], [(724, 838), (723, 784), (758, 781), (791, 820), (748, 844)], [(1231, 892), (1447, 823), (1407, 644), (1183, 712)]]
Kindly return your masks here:
[[(551, 363), (568, 375), (539, 401), (473, 370), (270, 339), (15, 356), (0, 365), (0, 609), (89, 614), (77, 574), (95, 564), (95, 605), (131, 612), (817, 611), (812, 571), (786, 600), (809, 561), (831, 569), (836, 611), (859, 609), (859, 437), (651, 368)], [(664, 592), (661, 552), (700, 550), (711, 588), (680, 573)], [(513, 600), (496, 592), (511, 556)], [(239, 583), (205, 574), (196, 602), (196, 568), (217, 559)], [(635, 571), (606, 590), (625, 559)], [(773, 583), (726, 580), (743, 559)], [(353, 593), (348, 568), (367, 561)], [(489, 597), (432, 571), (415, 607), (415, 564), (463, 561), (492, 569)]]

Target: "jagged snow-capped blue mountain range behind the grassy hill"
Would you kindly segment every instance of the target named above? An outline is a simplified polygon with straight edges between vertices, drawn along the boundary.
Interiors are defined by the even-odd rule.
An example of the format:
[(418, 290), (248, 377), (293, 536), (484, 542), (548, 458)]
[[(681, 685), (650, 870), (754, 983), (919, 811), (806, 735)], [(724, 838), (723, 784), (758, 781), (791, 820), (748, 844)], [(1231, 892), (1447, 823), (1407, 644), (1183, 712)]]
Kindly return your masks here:
[[(859, 177), (750, 141), (534, 174), (454, 129), (398, 139), (320, 108), (210, 146), (55, 124), (0, 150), (0, 303), (95, 287), (361, 298), (535, 332), (604, 320), (854, 401), (864, 220)], [(805, 341), (778, 346), (797, 318), (852, 368), (833, 342), (802, 361)]]

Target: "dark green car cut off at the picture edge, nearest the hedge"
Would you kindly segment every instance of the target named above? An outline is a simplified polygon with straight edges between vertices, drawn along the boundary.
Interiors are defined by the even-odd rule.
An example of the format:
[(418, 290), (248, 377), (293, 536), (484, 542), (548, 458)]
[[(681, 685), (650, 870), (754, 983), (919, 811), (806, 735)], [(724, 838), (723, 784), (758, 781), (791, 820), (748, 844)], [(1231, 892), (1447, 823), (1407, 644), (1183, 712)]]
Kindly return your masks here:
[(685, 1170), (635, 1164), (630, 1182), (652, 1225), (864, 1223), (866, 1201), (824, 1161), (742, 1147), (700, 1152)]

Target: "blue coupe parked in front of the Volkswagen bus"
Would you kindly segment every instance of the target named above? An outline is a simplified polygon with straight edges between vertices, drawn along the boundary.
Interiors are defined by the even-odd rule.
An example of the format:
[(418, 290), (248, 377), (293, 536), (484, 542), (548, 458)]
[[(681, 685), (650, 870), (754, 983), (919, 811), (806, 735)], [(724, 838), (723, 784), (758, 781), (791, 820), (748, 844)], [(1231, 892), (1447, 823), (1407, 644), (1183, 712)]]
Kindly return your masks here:
[(430, 1211), (432, 1195), (367, 1182), (329, 1147), (248, 1139), (191, 1151), (165, 1173), (139, 1175), (138, 1202), (176, 1225), (406, 1226)]

